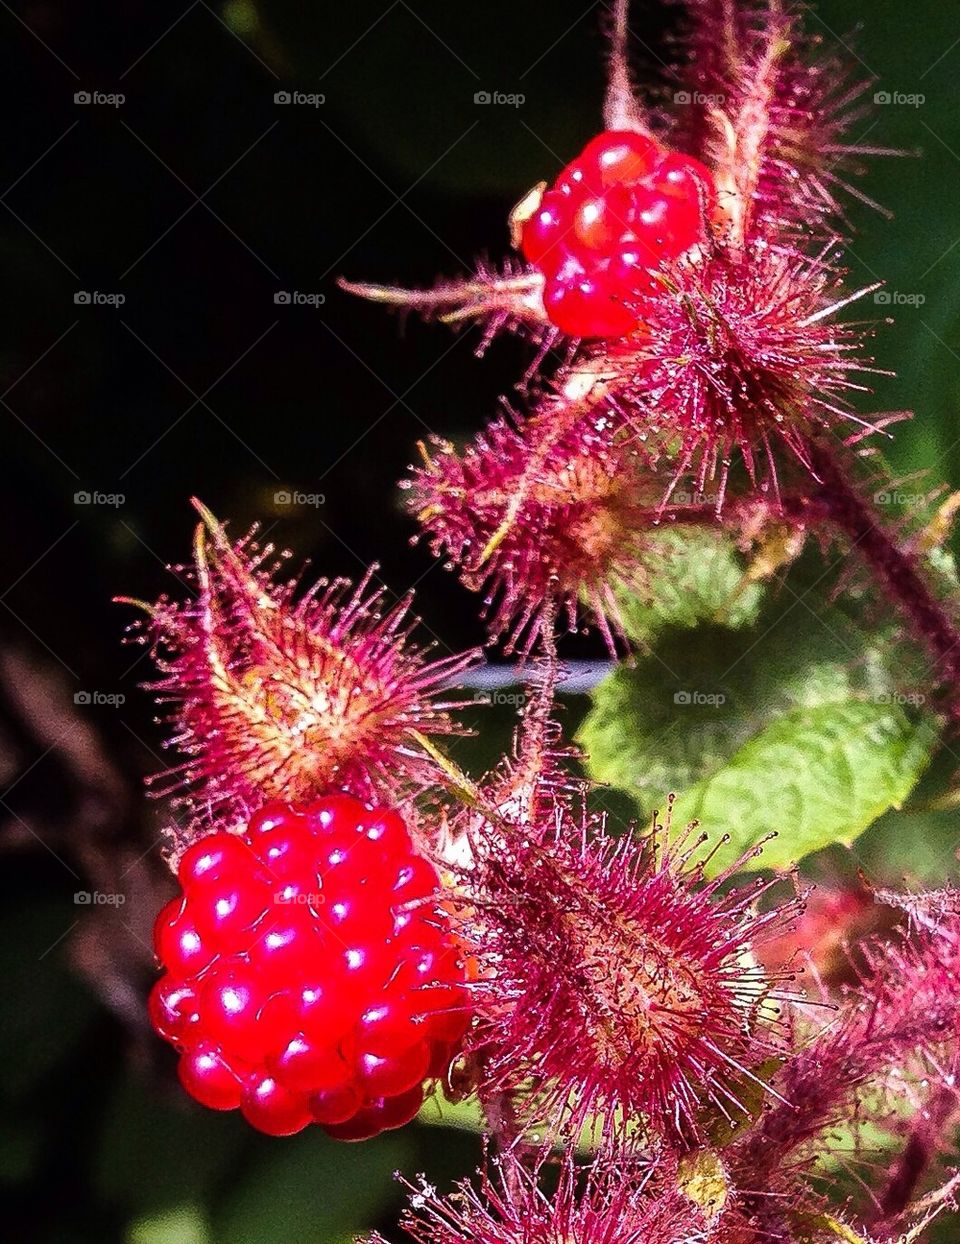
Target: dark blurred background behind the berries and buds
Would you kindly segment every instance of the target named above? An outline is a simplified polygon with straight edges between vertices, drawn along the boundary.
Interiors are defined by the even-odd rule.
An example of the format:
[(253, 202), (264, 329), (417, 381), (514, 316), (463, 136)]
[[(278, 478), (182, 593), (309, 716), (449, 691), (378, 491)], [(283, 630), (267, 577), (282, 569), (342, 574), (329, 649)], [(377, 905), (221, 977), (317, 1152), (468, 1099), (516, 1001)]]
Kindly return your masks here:
[[(851, 200), (852, 281), (890, 295), (852, 313), (895, 316), (875, 348), (900, 372), (864, 409), (914, 408), (892, 460), (956, 485), (960, 15), (939, 0), (818, 12), (824, 47), (851, 45), (877, 80), (854, 137), (923, 149), (869, 179), (893, 220)], [(410, 547), (397, 480), (418, 438), (476, 429), (528, 353), (507, 340), (478, 362), (475, 335), (404, 325), (335, 280), (429, 284), (499, 258), (511, 205), (599, 127), (606, 15), (0, 0), (7, 1238), (338, 1244), (389, 1230), (394, 1168), (446, 1183), (475, 1161), (473, 1138), (430, 1127), (269, 1141), (177, 1090), (142, 1013), (169, 881), (141, 781), (163, 734), (137, 690), (148, 663), (121, 646), (129, 611), (109, 602), (177, 590), (164, 566), (189, 554), (196, 494), (318, 572), (379, 561), (392, 588), (417, 585), (441, 648), (481, 638), (475, 598)], [(676, 16), (635, 4), (638, 76), (659, 78)], [(507, 725), (490, 718), (465, 759)]]

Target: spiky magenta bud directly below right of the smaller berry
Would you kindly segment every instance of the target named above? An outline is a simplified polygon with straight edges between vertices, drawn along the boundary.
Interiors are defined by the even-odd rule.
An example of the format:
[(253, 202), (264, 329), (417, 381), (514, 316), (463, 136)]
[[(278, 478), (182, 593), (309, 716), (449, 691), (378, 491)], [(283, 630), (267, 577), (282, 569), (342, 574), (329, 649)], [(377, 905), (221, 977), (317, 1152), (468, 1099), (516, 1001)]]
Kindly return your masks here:
[(812, 470), (812, 437), (875, 429), (851, 404), (864, 391), (854, 376), (875, 368), (857, 330), (834, 318), (869, 290), (846, 292), (826, 255), (718, 248), (664, 281), (652, 331), (624, 340), (612, 388), (630, 420), (662, 438), (675, 480), (690, 470), (699, 490), (719, 480), (718, 510), (736, 450), (776, 493), (781, 447)]

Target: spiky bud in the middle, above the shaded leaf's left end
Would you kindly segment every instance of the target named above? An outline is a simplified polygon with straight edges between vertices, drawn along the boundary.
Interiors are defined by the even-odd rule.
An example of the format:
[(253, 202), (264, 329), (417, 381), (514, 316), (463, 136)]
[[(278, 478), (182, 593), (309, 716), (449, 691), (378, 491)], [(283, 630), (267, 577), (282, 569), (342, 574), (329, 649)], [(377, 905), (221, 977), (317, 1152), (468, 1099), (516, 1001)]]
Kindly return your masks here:
[(438, 442), (410, 488), (432, 550), (485, 592), (509, 652), (530, 652), (551, 608), (573, 629), (584, 605), (616, 651), (617, 590), (643, 588), (650, 530), (670, 515), (642, 444), (602, 399), (583, 413), (558, 393), (530, 419), (489, 424), (463, 454)]

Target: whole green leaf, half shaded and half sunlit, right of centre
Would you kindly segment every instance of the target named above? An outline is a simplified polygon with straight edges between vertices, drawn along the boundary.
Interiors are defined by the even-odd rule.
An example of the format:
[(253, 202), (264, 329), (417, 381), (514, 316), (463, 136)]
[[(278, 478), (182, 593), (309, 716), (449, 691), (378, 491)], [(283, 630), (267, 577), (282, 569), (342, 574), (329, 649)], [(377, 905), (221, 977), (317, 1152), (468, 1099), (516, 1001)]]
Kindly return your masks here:
[(593, 693), (578, 733), (591, 775), (642, 815), (676, 794), (676, 824), (730, 835), (715, 867), (771, 832), (764, 866), (852, 842), (930, 759), (938, 724), (910, 690), (926, 672), (828, 578), (810, 554), (750, 624), (690, 629), (693, 612), (674, 613), (647, 656)]

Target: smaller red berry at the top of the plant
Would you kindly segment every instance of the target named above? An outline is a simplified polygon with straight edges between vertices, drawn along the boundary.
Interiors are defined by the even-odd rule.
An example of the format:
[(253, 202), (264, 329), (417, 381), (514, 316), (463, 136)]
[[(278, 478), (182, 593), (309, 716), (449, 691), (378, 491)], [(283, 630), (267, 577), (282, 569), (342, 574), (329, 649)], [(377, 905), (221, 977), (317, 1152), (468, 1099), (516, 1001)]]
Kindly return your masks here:
[(663, 291), (657, 270), (706, 240), (710, 170), (653, 138), (598, 134), (524, 225), (527, 260), (546, 277), (547, 315), (573, 337), (622, 337)]

